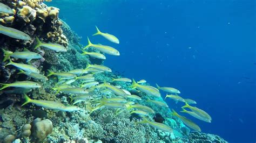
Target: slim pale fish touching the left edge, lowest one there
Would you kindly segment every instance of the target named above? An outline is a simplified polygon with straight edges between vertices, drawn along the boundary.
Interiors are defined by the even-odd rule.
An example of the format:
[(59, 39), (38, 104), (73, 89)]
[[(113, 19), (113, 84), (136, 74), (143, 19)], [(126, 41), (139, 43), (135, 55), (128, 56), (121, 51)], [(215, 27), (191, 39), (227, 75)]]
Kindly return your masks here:
[(8, 88), (8, 87), (16, 87), (16, 88), (41, 88), (42, 85), (37, 82), (32, 81), (17, 81), (14, 83), (0, 83), (4, 85), (0, 90)]

